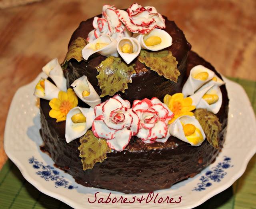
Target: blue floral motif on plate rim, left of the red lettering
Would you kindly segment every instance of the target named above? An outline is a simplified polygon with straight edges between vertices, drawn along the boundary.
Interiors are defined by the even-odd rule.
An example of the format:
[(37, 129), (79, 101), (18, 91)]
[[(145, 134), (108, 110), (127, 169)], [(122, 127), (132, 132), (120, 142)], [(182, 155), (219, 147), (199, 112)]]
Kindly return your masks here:
[[(57, 170), (54, 170), (54, 167), (50, 166), (50, 165), (44, 165), (44, 163), (37, 161), (37, 159), (33, 157), (31, 157), (30, 159), (28, 159), (28, 162), (30, 164), (33, 164), (33, 168), (34, 169), (38, 169), (38, 171), (36, 172), (37, 175), (40, 175), (41, 178), (44, 178), (44, 180), (46, 181), (55, 181), (55, 187), (64, 187), (67, 189), (74, 189), (77, 187), (74, 187), (72, 185), (69, 184), (69, 182), (64, 179), (64, 177), (62, 175), (59, 175), (60, 172)], [(42, 170), (39, 170), (42, 169)]]

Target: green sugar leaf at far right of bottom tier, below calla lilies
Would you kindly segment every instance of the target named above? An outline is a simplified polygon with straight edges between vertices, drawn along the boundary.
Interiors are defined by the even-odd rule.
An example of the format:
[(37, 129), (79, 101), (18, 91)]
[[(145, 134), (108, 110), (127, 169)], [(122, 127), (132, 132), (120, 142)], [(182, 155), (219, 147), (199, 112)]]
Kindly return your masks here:
[(194, 112), (194, 116), (199, 121), (204, 133), (206, 135), (207, 141), (219, 149), (219, 133), (221, 131), (221, 123), (216, 115), (207, 111), (206, 109), (198, 108)]

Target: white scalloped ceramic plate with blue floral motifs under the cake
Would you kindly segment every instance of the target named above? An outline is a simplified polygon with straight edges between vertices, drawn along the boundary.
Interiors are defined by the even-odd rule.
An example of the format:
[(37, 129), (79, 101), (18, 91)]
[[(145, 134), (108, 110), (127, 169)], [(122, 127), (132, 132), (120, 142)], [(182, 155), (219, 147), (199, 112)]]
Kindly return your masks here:
[[(141, 203), (137, 200), (141, 199), (142, 195), (147, 197), (148, 194), (126, 195), (106, 189), (84, 187), (77, 184), (71, 175), (55, 168), (52, 159), (39, 149), (42, 145), (39, 134), (40, 115), (33, 91), (40, 77), (44, 75), (38, 75), (36, 80), (20, 88), (14, 95), (6, 121), (4, 147), (8, 157), (17, 165), (26, 180), (41, 192), (71, 207), (193, 208), (230, 187), (244, 173), (248, 161), (256, 152), (256, 120), (252, 106), (243, 88), (225, 79), (230, 98), (226, 141), (216, 161), (200, 174), (177, 183), (170, 189), (155, 191), (149, 203), (146, 203), (146, 199)], [(96, 194), (97, 201), (89, 203), (89, 200), (95, 201), (96, 192), (100, 192)], [(115, 197), (118, 200), (122, 196), (123, 202), (131, 203), (121, 203), (121, 200), (113, 204), (98, 203), (100, 197), (106, 201), (110, 192), (113, 202)], [(181, 202), (157, 203), (167, 196), (174, 198), (172, 202), (179, 202), (181, 197)], [(124, 198), (127, 200), (124, 201)], [(150, 199), (148, 198), (148, 201)]]

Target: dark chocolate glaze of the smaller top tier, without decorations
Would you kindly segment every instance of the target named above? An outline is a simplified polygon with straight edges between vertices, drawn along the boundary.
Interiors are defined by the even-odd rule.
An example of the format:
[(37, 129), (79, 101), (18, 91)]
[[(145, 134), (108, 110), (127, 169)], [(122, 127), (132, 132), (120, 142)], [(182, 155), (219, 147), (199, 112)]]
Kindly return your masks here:
[[(131, 63), (136, 65), (134, 67), (136, 74), (132, 75), (132, 84), (128, 84), (128, 89), (126, 89), (124, 93), (118, 92), (125, 100), (132, 102), (136, 99), (142, 100), (152, 97), (157, 97), (162, 100), (166, 94), (172, 95), (182, 90), (184, 76), (186, 76), (186, 60), (191, 45), (187, 42), (182, 30), (176, 26), (174, 21), (167, 20), (166, 17), (164, 18), (166, 20), (165, 30), (172, 36), (172, 45), (167, 49), (172, 52), (172, 55), (178, 61), (178, 70), (180, 71), (178, 82), (175, 83), (164, 78), (164, 76), (158, 76), (156, 72), (150, 70), (150, 68), (146, 67), (146, 65), (139, 62), (136, 58)], [(82, 38), (87, 37), (87, 34), (93, 30), (92, 21), (93, 18), (90, 18), (80, 23), (79, 27), (72, 34), (69, 45), (78, 36)], [(78, 63), (74, 59), (70, 60), (70, 65), (65, 74), (68, 79), (68, 84), (72, 84), (77, 78), (86, 75), (89, 82), (100, 95), (101, 90), (98, 87), (98, 79), (96, 78), (98, 72), (95, 67), (105, 59), (106, 57), (104, 56), (94, 54), (88, 59), (88, 62), (81, 61)], [(109, 97), (106, 96), (102, 98), (102, 101), (108, 98)]]

